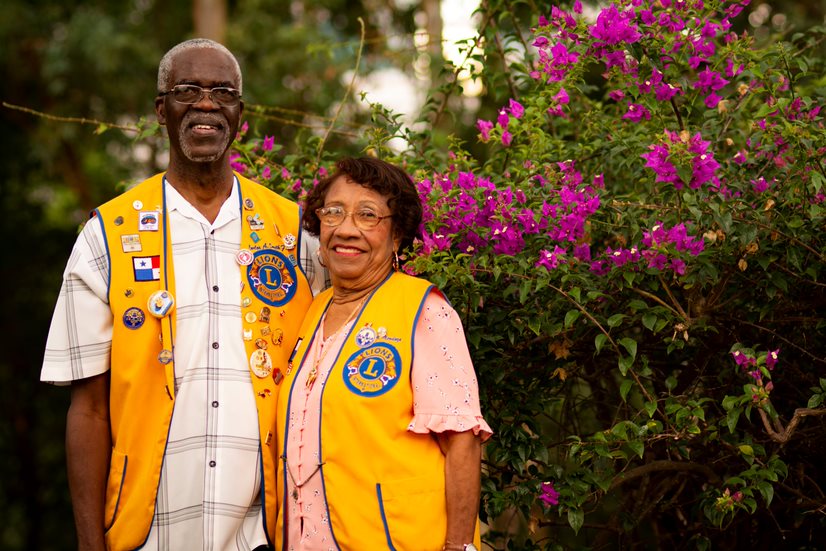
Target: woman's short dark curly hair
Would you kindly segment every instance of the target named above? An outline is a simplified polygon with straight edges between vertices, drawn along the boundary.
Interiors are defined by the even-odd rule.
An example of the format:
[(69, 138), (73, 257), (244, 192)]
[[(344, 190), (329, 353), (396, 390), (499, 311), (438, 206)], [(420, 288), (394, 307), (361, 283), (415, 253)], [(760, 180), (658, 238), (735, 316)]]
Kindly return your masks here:
[(336, 171), (321, 180), (304, 200), (301, 224), (313, 235), (321, 232), (321, 221), (316, 209), (324, 206), (324, 198), (339, 177), (372, 189), (387, 198), (393, 221), (393, 235), (401, 239), (399, 250), (413, 244), (420, 237), (422, 202), (413, 180), (401, 168), (373, 157), (346, 157), (336, 163)]

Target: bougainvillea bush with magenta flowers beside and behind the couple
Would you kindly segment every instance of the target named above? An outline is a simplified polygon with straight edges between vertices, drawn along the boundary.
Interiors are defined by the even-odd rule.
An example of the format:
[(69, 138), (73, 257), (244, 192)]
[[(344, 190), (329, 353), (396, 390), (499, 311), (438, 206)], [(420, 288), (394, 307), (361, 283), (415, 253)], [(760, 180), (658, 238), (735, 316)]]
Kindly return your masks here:
[[(475, 143), (432, 139), (457, 86), (416, 130), (374, 106), (496, 432), (493, 549), (826, 545), (826, 34), (755, 44), (747, 3), (483, 3)], [(301, 196), (335, 157), (301, 146), (236, 167)]]

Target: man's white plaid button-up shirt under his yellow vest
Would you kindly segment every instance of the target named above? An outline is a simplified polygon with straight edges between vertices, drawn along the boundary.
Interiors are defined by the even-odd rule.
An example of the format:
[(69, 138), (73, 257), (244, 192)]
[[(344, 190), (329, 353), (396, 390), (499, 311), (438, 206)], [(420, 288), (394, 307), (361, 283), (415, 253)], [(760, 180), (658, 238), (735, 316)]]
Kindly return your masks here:
[[(143, 549), (247, 551), (267, 539), (235, 259), (242, 230), (238, 185), (212, 224), (165, 185), (176, 282), (176, 401)], [(318, 240), (301, 237), (301, 264), (315, 294), (328, 285), (326, 272), (315, 255)], [(103, 234), (92, 220), (64, 273), (41, 380), (65, 385), (109, 370), (112, 324), (121, 320), (109, 309), (108, 274)]]

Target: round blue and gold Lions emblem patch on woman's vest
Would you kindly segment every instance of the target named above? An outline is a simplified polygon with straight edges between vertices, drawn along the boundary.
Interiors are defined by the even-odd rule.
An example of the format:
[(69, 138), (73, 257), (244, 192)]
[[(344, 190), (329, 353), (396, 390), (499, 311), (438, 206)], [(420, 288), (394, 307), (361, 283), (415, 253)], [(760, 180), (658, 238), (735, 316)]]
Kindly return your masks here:
[(359, 396), (384, 394), (399, 381), (398, 351), (387, 343), (359, 350), (344, 364), (344, 383)]

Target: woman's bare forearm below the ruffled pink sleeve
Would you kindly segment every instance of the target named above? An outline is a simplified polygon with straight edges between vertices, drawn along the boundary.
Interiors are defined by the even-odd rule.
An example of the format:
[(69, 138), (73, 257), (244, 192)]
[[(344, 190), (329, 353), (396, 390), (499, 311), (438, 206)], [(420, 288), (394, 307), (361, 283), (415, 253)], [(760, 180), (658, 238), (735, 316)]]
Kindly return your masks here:
[(473, 431), (438, 434), (445, 455), (447, 538), (445, 549), (460, 550), (472, 543), (479, 515), (482, 443)]

